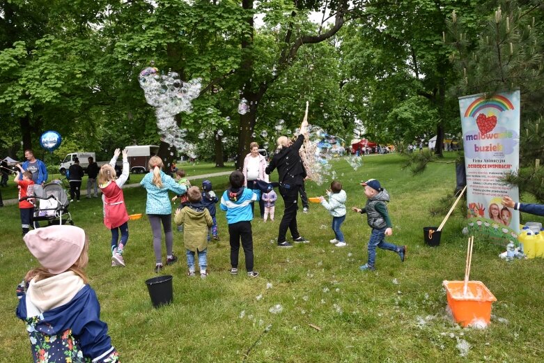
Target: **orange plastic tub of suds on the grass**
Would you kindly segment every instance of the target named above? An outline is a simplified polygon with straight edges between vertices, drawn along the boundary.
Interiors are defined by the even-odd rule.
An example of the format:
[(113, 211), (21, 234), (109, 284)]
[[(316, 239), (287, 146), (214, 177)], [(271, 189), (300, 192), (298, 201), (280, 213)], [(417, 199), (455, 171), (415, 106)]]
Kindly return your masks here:
[(497, 298), (481, 281), (468, 281), (467, 295), (464, 294), (465, 281), (444, 281), (448, 305), (456, 323), (467, 327), (485, 323), (491, 319), (491, 304)]

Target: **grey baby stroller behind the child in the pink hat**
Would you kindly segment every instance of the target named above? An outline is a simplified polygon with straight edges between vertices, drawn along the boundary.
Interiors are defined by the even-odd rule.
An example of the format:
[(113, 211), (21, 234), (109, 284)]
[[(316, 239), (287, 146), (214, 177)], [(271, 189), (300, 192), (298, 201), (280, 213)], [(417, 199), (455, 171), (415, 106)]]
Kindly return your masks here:
[(40, 221), (47, 221), (47, 225), (67, 224), (72, 226), (72, 215), (68, 212), (70, 200), (68, 194), (58, 183), (48, 183), (43, 187), (34, 185), (34, 228), (37, 228)]

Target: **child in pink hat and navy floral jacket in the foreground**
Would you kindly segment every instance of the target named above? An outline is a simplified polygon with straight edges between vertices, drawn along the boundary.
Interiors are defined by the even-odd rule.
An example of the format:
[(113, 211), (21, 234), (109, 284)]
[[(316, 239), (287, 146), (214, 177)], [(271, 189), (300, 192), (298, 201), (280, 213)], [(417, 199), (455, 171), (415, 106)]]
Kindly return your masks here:
[(24, 242), (41, 265), (17, 286), (17, 317), (26, 323), (34, 362), (118, 362), (87, 284), (85, 231), (49, 226), (26, 233)]

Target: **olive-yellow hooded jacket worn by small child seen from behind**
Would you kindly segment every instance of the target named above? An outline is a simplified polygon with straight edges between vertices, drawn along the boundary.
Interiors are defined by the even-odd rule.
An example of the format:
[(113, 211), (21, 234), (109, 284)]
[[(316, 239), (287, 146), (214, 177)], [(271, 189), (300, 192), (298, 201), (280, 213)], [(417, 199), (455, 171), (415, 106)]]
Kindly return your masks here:
[(202, 203), (189, 203), (177, 213), (174, 222), (183, 224), (183, 242), (185, 248), (192, 252), (208, 248), (208, 228), (213, 221), (210, 211)]

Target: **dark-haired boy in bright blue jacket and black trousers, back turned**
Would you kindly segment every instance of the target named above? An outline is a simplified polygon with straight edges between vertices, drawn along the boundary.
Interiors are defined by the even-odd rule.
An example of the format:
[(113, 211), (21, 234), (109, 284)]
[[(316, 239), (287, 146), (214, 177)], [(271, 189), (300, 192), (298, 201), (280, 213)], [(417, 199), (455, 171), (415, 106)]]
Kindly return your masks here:
[(253, 235), (251, 233), (251, 219), (253, 219), (251, 202), (257, 200), (257, 194), (251, 189), (244, 188), (242, 171), (233, 171), (228, 180), (231, 187), (223, 193), (219, 208), (226, 210), (226, 222), (231, 243), (231, 275), (238, 275), (238, 252), (241, 240), (247, 276), (257, 277), (259, 273), (253, 270)]

